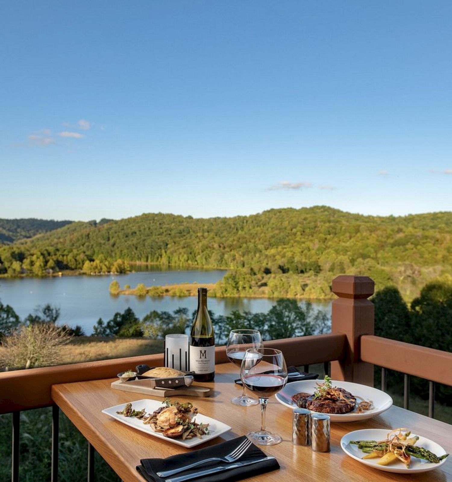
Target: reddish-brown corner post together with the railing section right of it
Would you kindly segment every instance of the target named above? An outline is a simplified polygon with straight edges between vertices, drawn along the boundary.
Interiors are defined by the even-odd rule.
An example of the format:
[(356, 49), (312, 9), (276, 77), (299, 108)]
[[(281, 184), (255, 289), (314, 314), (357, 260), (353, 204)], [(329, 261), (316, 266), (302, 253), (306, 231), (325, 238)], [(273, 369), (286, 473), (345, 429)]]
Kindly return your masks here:
[(428, 415), (434, 416), (435, 383), (452, 386), (452, 353), (374, 336), (374, 308), (367, 298), (373, 281), (366, 276), (338, 276), (332, 291), (332, 332), (346, 335), (346, 356), (332, 363), (332, 378), (373, 386), (374, 366), (382, 368), (386, 391), (387, 369), (404, 375), (403, 407), (410, 405), (410, 376), (429, 382)]

